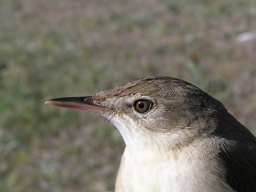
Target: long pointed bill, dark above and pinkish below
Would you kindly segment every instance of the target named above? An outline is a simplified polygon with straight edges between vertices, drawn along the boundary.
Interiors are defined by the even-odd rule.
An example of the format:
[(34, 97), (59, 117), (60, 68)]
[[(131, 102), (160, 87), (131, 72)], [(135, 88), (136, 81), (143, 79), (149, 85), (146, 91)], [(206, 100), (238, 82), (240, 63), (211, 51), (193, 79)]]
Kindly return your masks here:
[(108, 108), (95, 105), (92, 96), (87, 97), (62, 97), (50, 99), (45, 102), (46, 104), (55, 105), (58, 107), (65, 107), (70, 109), (93, 111), (102, 113), (108, 110)]

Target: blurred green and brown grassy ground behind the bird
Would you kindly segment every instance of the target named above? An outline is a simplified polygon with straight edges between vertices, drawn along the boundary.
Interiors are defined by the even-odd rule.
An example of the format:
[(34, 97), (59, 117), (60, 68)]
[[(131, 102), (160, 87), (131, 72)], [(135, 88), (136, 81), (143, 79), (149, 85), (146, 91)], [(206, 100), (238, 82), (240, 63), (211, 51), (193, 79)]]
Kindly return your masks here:
[(113, 190), (104, 118), (45, 105), (146, 76), (220, 100), (256, 134), (255, 0), (1, 0), (0, 192)]

